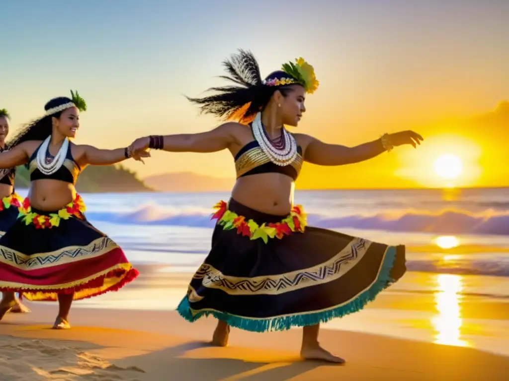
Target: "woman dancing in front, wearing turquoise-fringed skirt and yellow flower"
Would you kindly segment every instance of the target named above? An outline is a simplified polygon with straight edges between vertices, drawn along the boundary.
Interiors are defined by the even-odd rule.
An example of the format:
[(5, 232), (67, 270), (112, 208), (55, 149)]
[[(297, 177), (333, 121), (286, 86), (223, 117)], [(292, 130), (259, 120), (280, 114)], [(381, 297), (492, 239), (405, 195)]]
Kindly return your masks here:
[(306, 227), (302, 207), (293, 204), (293, 182), (304, 161), (358, 163), (394, 146), (415, 147), (422, 137), (384, 134), (350, 148), (291, 134), (285, 125), (297, 126), (306, 92), (318, 87), (313, 67), (299, 58), (262, 80), (256, 59), (242, 50), (224, 65), (230, 76), (223, 78), (234, 85), (190, 101), (239, 122), (201, 134), (139, 138), (130, 146), (131, 152), (229, 149), (235, 160), (232, 198), (216, 205), (212, 249), (178, 312), (190, 322), (215, 316), (217, 345), (227, 344), (229, 326), (256, 332), (302, 326), (302, 357), (344, 362), (319, 345), (319, 324), (362, 309), (398, 280), (406, 271), (405, 247)]

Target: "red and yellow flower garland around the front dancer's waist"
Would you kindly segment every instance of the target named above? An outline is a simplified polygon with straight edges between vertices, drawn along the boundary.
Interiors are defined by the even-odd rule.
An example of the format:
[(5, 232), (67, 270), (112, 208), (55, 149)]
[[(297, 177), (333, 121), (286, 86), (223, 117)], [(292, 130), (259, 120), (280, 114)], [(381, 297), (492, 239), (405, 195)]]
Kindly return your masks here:
[(212, 215), (211, 219), (217, 219), (217, 224), (221, 225), (223, 230), (237, 229), (237, 234), (242, 234), (250, 239), (261, 238), (265, 243), (269, 238), (281, 239), (293, 232), (302, 233), (307, 225), (306, 214), (300, 205), (294, 206), (290, 214), (280, 222), (262, 225), (258, 225), (252, 219), (246, 220), (244, 216), (239, 216), (228, 210), (228, 204), (222, 200), (214, 208), (217, 209), (217, 212)]

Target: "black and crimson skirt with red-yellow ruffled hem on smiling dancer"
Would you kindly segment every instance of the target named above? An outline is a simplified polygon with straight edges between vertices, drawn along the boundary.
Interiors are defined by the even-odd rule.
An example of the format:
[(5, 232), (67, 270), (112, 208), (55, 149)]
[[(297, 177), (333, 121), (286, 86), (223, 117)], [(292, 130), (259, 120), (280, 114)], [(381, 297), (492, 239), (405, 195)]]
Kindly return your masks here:
[[(53, 217), (59, 211), (32, 208), (32, 213)], [(74, 300), (90, 298), (117, 291), (137, 275), (122, 249), (82, 213), (45, 227), (20, 213), (0, 238), (0, 291), (20, 292), (29, 300), (54, 301), (70, 293)]]

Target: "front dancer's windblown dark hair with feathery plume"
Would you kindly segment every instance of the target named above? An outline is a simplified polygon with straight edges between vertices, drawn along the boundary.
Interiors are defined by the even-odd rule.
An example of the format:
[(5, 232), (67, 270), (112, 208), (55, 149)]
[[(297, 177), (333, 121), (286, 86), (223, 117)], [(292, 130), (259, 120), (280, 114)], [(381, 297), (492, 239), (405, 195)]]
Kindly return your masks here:
[[(260, 67), (250, 51), (239, 49), (230, 59), (223, 61), (228, 75), (219, 76), (234, 83), (220, 87), (211, 87), (207, 91), (216, 93), (204, 98), (189, 98), (190, 102), (199, 105), (202, 113), (213, 114), (222, 120), (236, 120), (249, 123), (256, 114), (263, 110), (270, 101), (274, 91), (279, 90), (285, 96), (288, 86), (267, 86), (263, 83)], [(286, 76), (284, 72), (269, 75)]]

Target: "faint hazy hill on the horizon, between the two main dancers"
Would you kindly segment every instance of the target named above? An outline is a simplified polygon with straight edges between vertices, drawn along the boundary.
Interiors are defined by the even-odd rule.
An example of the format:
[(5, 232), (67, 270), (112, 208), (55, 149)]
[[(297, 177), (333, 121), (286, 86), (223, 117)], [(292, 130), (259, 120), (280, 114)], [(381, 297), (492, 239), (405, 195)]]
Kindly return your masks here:
[(220, 192), (231, 190), (233, 178), (197, 175), (192, 172), (163, 173), (143, 179), (146, 185), (159, 192)]

